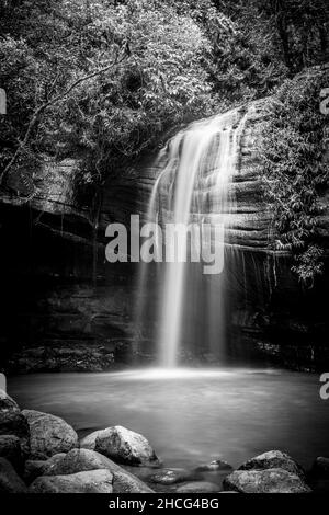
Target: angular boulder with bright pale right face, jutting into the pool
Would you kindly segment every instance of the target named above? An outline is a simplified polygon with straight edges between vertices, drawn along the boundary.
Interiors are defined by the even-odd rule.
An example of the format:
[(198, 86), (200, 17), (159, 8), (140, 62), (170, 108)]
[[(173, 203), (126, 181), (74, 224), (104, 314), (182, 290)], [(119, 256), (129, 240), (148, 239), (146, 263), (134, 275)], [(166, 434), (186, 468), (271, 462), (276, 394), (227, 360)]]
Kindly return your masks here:
[(95, 438), (94, 450), (125, 465), (155, 465), (159, 460), (140, 434), (116, 425), (103, 430)]

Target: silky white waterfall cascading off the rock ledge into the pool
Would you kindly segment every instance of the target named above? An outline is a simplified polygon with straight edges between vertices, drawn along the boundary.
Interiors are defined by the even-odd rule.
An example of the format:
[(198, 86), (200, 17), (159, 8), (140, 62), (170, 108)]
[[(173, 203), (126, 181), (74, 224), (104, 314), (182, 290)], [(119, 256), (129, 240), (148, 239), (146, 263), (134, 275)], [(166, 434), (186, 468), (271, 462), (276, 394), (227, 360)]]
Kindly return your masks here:
[[(149, 221), (163, 229), (167, 224), (186, 227), (192, 221), (201, 227), (220, 225), (224, 227), (220, 241), (217, 232), (214, 241), (212, 232), (209, 245), (224, 249), (224, 243), (229, 241), (230, 215), (235, 210), (229, 184), (237, 165), (243, 124), (245, 117), (232, 111), (193, 123), (168, 142), (156, 164), (159, 174), (150, 195)], [(186, 255), (191, 252), (188, 231), (180, 233), (179, 245), (180, 252)], [(141, 265), (139, 290), (149, 288), (147, 266)], [(205, 275), (202, 263), (180, 262), (177, 253), (172, 262), (156, 266), (158, 364), (175, 367), (182, 353), (188, 356), (186, 350), (198, 345), (207, 355), (223, 357), (225, 268), (218, 275)], [(147, 298), (147, 293), (143, 297)], [(139, 306), (138, 312), (140, 318), (149, 310)]]

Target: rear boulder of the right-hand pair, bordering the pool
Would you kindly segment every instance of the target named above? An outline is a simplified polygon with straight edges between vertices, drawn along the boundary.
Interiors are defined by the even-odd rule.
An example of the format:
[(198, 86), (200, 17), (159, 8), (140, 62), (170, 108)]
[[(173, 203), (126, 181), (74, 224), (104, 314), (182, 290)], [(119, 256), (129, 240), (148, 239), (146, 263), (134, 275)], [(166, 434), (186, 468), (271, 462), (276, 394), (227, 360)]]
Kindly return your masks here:
[(305, 479), (302, 467), (287, 454), (281, 450), (269, 450), (246, 461), (238, 470), (284, 469)]

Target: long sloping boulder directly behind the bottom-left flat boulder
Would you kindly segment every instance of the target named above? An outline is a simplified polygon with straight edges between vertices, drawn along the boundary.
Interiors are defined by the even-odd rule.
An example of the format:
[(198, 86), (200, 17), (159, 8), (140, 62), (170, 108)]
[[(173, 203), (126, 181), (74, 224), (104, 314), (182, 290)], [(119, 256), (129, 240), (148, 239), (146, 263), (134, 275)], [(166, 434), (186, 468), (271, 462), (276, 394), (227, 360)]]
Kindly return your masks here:
[(138, 478), (90, 449), (72, 449), (66, 455), (55, 455), (46, 461), (26, 461), (25, 473), (35, 479), (37, 476), (67, 476), (100, 469), (112, 473), (114, 493), (152, 493)]

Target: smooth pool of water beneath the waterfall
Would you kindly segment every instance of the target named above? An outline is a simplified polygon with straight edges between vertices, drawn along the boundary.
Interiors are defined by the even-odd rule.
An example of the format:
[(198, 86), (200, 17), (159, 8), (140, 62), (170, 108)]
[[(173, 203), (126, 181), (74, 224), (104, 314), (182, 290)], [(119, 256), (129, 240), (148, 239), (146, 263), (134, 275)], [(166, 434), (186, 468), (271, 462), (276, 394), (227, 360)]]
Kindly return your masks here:
[(124, 425), (166, 466), (222, 458), (234, 467), (280, 448), (309, 467), (329, 455), (329, 402), (318, 376), (282, 370), (173, 369), (37, 374), (9, 379), (23, 408), (63, 416), (86, 433)]

